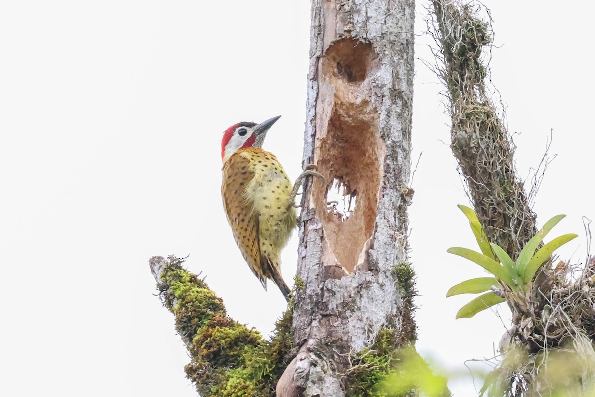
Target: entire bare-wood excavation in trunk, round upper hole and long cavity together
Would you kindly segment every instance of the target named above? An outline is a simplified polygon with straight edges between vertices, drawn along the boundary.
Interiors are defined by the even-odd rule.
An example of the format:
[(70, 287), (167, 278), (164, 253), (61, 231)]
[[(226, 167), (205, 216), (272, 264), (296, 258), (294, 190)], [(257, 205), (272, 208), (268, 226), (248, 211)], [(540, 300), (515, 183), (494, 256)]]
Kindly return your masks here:
[(315, 161), (325, 179), (314, 179), (312, 196), (328, 244), (323, 274), (343, 268), (330, 272), (333, 278), (368, 270), (384, 143), (366, 81), (378, 68), (373, 46), (350, 37), (336, 40), (322, 55)]

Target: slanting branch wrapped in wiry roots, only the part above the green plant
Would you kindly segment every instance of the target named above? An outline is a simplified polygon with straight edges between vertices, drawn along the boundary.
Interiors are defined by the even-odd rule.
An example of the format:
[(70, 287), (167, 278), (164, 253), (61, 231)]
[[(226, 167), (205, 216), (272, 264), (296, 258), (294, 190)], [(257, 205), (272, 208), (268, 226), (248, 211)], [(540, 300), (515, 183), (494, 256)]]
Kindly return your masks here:
[[(430, 34), (439, 47), (436, 72), (447, 89), (450, 147), (488, 240), (516, 257), (537, 232), (536, 215), (516, 175), (512, 138), (488, 93), (489, 12), (479, 2), (433, 0), (432, 5)], [(487, 21), (480, 11), (487, 12)]]

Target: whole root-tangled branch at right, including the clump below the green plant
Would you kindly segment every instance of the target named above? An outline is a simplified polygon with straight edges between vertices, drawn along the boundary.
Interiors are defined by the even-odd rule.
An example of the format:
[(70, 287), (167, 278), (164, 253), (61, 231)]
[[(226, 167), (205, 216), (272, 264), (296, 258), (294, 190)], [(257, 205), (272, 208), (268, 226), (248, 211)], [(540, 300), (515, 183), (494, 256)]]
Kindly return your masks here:
[[(434, 55), (440, 64), (437, 74), (446, 86), (452, 121), (450, 147), (487, 241), (516, 260), (537, 233), (536, 215), (516, 176), (511, 136), (488, 93), (486, 51), (493, 40), (490, 13), (478, 1), (433, 0), (431, 4), (430, 34), (436, 40)], [(531, 248), (528, 254), (533, 255), (537, 247)], [(531, 279), (524, 280), (531, 282), (528, 290), (509, 291), (503, 285), (513, 326), (500, 342), (503, 360), (488, 376), (482, 395), (591, 395), (595, 379), (593, 259), (583, 266), (560, 261), (555, 268), (550, 259), (535, 278), (533, 272), (528, 274)], [(558, 373), (563, 379), (556, 377)]]

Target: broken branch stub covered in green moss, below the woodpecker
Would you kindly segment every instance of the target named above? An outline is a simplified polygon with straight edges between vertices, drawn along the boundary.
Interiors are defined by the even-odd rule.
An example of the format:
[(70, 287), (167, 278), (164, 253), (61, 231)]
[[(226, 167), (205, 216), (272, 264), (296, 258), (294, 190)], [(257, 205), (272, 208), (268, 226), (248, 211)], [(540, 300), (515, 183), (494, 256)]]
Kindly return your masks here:
[(176, 317), (175, 327), (192, 361), (187, 377), (202, 396), (272, 397), (292, 349), (290, 308), (275, 324), (271, 341), (227, 316), (221, 298), (184, 259), (155, 256), (149, 260), (159, 298)]

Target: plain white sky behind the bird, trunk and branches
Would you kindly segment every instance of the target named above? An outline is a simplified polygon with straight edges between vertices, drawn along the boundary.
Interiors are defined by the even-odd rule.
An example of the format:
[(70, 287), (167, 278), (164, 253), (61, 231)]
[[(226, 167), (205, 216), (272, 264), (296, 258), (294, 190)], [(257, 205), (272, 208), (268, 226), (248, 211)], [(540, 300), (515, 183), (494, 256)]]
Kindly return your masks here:
[[(552, 233), (595, 217), (590, 175), (595, 5), (487, 1), (493, 81), (508, 105), (522, 177), (553, 129), (534, 209)], [(148, 259), (190, 254), (229, 314), (265, 335), (285, 303), (262, 290), (231, 237), (220, 198), (221, 133), (283, 115), (265, 148), (300, 171), (309, 2), (0, 2), (0, 395), (196, 396), (186, 349), (161, 307)], [(425, 29), (419, 2), (417, 33)], [(431, 61), (417, 36), (417, 57)], [(486, 311), (454, 320), (468, 297), (447, 289), (484, 273), (446, 253), (475, 248), (449, 147), (441, 86), (416, 63), (411, 259), (418, 348), (449, 368), (490, 357), (505, 330)], [(296, 268), (296, 241), (283, 255)], [(508, 316), (502, 308), (503, 316)], [(505, 320), (505, 322), (508, 320)], [(474, 395), (469, 379), (452, 382)]]

